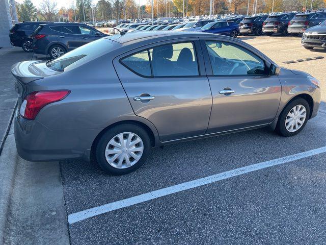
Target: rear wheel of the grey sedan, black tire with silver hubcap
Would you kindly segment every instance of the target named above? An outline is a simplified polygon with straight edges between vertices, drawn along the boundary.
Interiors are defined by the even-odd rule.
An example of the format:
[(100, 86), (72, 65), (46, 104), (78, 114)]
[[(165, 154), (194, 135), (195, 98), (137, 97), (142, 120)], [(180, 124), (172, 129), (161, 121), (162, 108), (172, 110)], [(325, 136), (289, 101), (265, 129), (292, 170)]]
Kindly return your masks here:
[[(138, 143), (128, 148), (126, 145), (128, 143), (128, 136), (132, 136), (130, 138), (131, 144), (134, 142)], [(120, 139), (122, 139), (122, 137), (124, 142), (121, 147)], [(138, 141), (139, 139), (141, 139), (141, 141)], [(141, 149), (143, 152), (135, 151), (135, 149)], [(143, 165), (150, 150), (151, 143), (146, 130), (138, 125), (123, 124), (108, 129), (100, 137), (96, 145), (95, 157), (98, 165), (103, 169), (103, 171), (105, 171), (105, 173), (124, 175)], [(113, 154), (110, 154), (109, 151)], [(137, 159), (138, 157), (140, 158)], [(122, 160), (121, 163), (120, 160)]]

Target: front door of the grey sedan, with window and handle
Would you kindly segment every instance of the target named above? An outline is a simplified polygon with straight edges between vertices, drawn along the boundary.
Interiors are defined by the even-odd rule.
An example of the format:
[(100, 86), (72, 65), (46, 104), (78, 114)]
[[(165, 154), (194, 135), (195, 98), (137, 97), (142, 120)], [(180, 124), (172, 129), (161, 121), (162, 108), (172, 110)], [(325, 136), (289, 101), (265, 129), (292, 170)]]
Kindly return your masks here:
[(201, 43), (213, 98), (207, 133), (273, 121), (281, 84), (267, 74), (263, 58), (233, 41), (201, 38)]

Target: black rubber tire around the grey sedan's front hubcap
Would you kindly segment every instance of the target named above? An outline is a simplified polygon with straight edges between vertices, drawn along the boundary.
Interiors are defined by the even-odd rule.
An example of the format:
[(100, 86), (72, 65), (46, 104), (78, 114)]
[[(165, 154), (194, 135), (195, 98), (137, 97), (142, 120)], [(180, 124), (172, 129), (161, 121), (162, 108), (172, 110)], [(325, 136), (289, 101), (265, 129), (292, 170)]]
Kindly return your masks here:
[[(300, 108), (300, 106), (301, 106), (301, 108)], [(301, 122), (300, 128), (298, 128), (295, 131), (291, 132), (286, 127), (286, 120), (287, 119), (291, 119), (291, 117), (288, 114), (290, 113), (290, 111), (292, 111), (292, 109), (294, 109), (294, 108), (296, 108), (296, 109), (300, 108), (300, 109), (298, 109), (298, 111), (300, 111), (302, 109), (302, 107), (304, 107), (305, 110), (306, 110), (306, 112), (304, 113), (305, 114), (305, 118), (302, 118), (302, 122)], [(295, 112), (292, 111), (292, 113), (295, 113)], [(302, 99), (302, 98), (295, 99), (292, 102), (290, 102), (283, 109), (283, 111), (282, 111), (282, 113), (281, 113), (281, 115), (279, 117), (277, 126), (276, 126), (276, 131), (279, 134), (281, 134), (281, 135), (283, 135), (285, 137), (294, 136), (294, 135), (300, 133), (305, 128), (305, 126), (307, 124), (307, 121), (308, 121), (309, 115), (310, 115), (310, 107), (309, 107), (308, 102), (305, 99)], [(303, 114), (301, 116), (303, 116)], [(300, 117), (298, 117), (298, 118), (300, 118)], [(289, 127), (290, 126), (290, 122), (287, 122), (287, 125)], [(293, 127), (293, 130), (294, 130), (294, 127)]]

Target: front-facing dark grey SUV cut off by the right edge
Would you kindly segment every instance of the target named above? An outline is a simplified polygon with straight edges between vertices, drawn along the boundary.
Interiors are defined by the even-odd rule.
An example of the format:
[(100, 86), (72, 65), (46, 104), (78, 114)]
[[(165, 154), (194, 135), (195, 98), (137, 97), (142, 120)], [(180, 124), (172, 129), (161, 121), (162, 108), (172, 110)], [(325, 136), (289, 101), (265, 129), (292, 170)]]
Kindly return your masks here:
[(307, 50), (314, 47), (323, 47), (326, 49), (326, 20), (305, 31), (302, 35), (301, 45)]

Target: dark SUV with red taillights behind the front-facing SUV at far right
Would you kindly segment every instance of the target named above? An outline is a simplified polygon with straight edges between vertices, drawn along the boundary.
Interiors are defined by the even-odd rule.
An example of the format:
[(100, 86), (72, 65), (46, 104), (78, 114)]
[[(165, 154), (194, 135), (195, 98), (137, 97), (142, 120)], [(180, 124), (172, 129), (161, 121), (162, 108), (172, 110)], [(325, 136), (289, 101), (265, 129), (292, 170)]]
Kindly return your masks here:
[(304, 33), (308, 28), (317, 26), (324, 20), (326, 20), (325, 10), (296, 14), (289, 22), (287, 31), (292, 36), (297, 36)]

